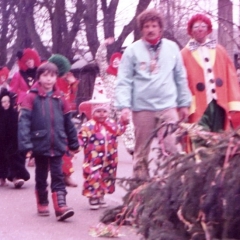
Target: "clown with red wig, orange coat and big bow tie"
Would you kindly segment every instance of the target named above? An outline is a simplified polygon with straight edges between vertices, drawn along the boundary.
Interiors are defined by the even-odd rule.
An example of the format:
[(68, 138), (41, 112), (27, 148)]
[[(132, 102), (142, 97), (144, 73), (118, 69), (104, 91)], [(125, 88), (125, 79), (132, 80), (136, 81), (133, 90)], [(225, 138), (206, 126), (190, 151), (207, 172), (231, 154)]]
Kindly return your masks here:
[(240, 113), (240, 91), (234, 65), (223, 46), (211, 40), (211, 20), (196, 14), (188, 22), (190, 41), (182, 49), (193, 95), (189, 121), (205, 130), (230, 129), (231, 115)]

